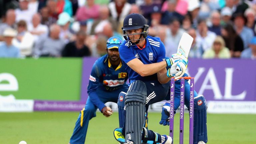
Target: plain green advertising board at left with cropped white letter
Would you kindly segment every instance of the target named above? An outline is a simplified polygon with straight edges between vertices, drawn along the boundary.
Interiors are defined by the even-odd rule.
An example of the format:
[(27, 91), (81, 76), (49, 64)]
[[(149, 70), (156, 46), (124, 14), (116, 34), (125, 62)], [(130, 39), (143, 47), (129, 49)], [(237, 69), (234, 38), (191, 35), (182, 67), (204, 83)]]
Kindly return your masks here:
[[(18, 91), (3, 91), (16, 99), (80, 100), (82, 58), (0, 59), (0, 76), (9, 73), (18, 81)], [(1, 78), (0, 78), (1, 79)]]

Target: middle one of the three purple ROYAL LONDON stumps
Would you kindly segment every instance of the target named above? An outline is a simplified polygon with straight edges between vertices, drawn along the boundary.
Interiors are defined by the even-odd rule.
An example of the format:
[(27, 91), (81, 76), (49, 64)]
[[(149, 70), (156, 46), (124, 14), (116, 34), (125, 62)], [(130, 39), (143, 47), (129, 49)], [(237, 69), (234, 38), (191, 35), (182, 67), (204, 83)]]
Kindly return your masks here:
[(180, 80), (180, 144), (183, 144), (185, 80)]

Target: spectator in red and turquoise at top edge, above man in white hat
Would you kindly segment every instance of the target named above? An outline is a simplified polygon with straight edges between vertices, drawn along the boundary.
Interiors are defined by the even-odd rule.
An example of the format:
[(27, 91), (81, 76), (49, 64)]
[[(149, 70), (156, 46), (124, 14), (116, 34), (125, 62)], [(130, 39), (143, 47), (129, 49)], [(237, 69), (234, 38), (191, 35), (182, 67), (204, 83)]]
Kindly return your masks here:
[(66, 12), (69, 16), (73, 16), (72, 3), (70, 0), (57, 0), (57, 14)]

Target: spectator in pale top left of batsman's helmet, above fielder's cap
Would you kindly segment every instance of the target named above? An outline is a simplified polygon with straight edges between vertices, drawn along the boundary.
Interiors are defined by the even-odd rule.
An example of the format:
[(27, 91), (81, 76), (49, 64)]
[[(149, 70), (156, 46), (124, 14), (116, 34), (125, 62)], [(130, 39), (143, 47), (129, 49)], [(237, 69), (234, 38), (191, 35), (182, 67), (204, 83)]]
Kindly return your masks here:
[(117, 22), (115, 20), (113, 20), (112, 18), (110, 18), (108, 7), (101, 6), (100, 7), (100, 18), (93, 21), (90, 34), (95, 35), (95, 33), (103, 32), (103, 27), (106, 23), (111, 23), (114, 31), (117, 30)]

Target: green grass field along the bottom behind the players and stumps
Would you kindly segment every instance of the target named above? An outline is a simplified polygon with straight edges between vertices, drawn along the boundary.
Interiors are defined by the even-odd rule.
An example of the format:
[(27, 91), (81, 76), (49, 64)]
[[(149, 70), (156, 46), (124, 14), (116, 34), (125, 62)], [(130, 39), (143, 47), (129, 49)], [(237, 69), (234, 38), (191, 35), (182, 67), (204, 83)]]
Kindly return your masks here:
[[(0, 113), (0, 141), (5, 144), (68, 144), (78, 112)], [(149, 129), (168, 134), (169, 127), (159, 125), (159, 113), (149, 113)], [(184, 144), (188, 144), (188, 113), (184, 122)], [(86, 144), (118, 144), (113, 137), (118, 127), (118, 113), (97, 117), (89, 123)], [(256, 144), (256, 115), (208, 114), (207, 144)], [(179, 139), (179, 116), (175, 116), (174, 144)]]

